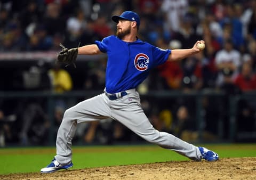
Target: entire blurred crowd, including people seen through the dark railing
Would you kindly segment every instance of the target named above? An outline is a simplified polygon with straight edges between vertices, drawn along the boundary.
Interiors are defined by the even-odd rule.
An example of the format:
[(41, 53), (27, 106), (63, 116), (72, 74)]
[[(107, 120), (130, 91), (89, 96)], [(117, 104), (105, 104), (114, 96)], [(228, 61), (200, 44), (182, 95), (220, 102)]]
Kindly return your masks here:
[[(115, 34), (116, 24), (111, 21), (111, 16), (125, 10), (140, 15), (138, 37), (163, 49), (191, 48), (196, 40), (205, 41), (205, 50), (201, 53), (179, 62), (166, 62), (153, 70), (138, 88), (142, 94), (150, 90), (220, 89), (228, 98), (256, 89), (256, 0), (3, 0), (0, 3), (0, 53), (60, 51), (60, 43), (67, 48), (76, 47), (79, 42), (81, 45), (92, 44), (94, 40)], [(51, 90), (55, 93), (101, 90), (105, 87), (105, 67), (105, 58), (79, 61), (77, 69), (38, 60), (23, 69), (11, 67), (11, 79), (2, 83), (0, 90)], [(9, 70), (2, 70), (1, 75), (4, 77)], [(10, 141), (26, 144), (29, 131), (34, 128), (34, 134), (45, 137), (50, 126), (45, 102), (6, 101), (0, 102), (0, 136), (5, 132), (5, 138)], [(223, 101), (221, 108), (227, 108), (228, 99)], [(166, 104), (167, 107), (162, 109), (152, 107), (151, 103), (154, 102), (145, 99), (142, 106), (157, 129), (167, 130), (183, 139), (197, 139), (195, 119), (191, 115), (195, 111), (193, 103), (175, 100), (175, 106)], [(205, 117), (210, 119), (209, 123), (214, 121), (214, 113), (221, 114), (221, 109), (216, 108), (217, 100), (214, 103), (204, 99), (204, 108), (208, 110)], [(15, 110), (10, 108), (13, 104)], [(55, 104), (58, 127), (63, 111), (74, 103), (60, 99)], [(240, 127), (255, 130), (256, 105), (244, 101), (241, 104), (239, 117), (248, 122)], [(35, 120), (38, 117), (41, 120)], [(7, 124), (15, 118), (21, 120), (19, 128), (15, 127), (19, 133), (12, 138)], [(33, 121), (40, 123), (33, 124)], [(112, 124), (109, 119), (104, 123), (93, 122), (78, 129), (78, 136), (83, 136), (85, 142), (92, 142), (97, 136), (96, 129), (100, 129), (102, 136), (98, 140), (102, 142), (126, 139), (125, 128), (121, 124)], [(44, 128), (38, 130), (38, 127)], [(204, 133), (207, 138), (216, 138), (212, 128), (217, 127)], [(186, 131), (182, 132), (182, 129)]]

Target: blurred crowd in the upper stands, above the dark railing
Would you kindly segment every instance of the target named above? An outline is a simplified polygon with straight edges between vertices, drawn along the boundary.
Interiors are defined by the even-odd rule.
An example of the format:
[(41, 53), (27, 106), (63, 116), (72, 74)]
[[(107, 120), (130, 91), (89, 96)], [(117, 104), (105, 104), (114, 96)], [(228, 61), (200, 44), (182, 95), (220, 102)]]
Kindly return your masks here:
[(159, 67), (159, 88), (201, 89), (226, 83), (241, 91), (256, 88), (253, 0), (2, 1), (0, 52), (59, 51), (60, 43), (68, 48), (94, 43), (115, 34), (111, 16), (124, 10), (139, 13), (139, 38), (158, 47), (190, 48), (198, 39), (205, 41), (201, 54)]

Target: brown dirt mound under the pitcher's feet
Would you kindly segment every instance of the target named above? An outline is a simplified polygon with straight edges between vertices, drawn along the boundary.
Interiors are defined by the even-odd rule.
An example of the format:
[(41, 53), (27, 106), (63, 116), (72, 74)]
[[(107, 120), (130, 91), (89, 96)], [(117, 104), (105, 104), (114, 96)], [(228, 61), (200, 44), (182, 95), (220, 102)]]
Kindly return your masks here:
[(0, 179), (256, 179), (256, 157), (216, 162), (169, 161), (142, 165), (64, 170), (51, 174), (0, 175)]

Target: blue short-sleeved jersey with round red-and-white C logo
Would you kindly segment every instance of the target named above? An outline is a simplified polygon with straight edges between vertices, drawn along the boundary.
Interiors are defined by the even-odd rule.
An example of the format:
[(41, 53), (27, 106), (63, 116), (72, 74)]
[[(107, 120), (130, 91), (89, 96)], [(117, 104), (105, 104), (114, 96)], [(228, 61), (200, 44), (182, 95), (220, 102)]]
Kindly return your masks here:
[(108, 55), (106, 91), (111, 94), (136, 88), (147, 78), (150, 69), (163, 64), (171, 53), (140, 39), (127, 43), (114, 35), (95, 43)]

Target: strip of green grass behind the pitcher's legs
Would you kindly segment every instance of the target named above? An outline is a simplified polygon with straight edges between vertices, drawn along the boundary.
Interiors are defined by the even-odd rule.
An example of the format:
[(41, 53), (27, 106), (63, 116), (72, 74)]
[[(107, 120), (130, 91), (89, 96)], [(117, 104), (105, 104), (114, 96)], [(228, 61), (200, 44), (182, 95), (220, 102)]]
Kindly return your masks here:
[[(199, 145), (199, 144), (197, 144)], [(200, 144), (221, 158), (256, 157), (256, 144)], [(55, 147), (2, 148), (0, 174), (39, 172), (55, 155)], [(156, 145), (74, 146), (73, 169), (189, 160)]]

